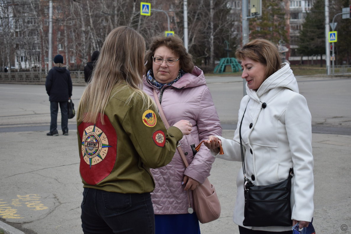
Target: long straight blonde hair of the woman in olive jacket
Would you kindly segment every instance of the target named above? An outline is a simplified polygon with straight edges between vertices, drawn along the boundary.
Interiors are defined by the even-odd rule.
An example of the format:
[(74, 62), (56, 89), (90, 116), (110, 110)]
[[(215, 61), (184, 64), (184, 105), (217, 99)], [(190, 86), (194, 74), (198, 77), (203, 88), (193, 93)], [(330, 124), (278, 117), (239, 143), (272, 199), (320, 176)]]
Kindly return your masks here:
[(145, 40), (137, 31), (127, 26), (112, 30), (102, 45), (92, 79), (80, 99), (77, 121), (96, 123), (100, 113), (101, 123), (104, 124), (104, 112), (112, 89), (115, 84), (120, 86), (111, 97), (124, 89), (121, 82), (132, 90), (127, 103), (137, 96), (143, 100), (143, 109), (145, 106), (155, 107), (153, 100), (142, 90), (144, 56)]

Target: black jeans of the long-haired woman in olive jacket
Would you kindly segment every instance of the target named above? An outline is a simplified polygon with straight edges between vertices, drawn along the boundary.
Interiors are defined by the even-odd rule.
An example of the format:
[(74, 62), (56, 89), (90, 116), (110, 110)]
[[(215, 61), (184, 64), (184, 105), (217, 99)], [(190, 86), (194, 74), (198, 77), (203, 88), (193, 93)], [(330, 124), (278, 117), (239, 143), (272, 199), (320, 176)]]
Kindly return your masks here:
[(155, 216), (150, 193), (122, 194), (84, 188), (84, 234), (154, 234)]

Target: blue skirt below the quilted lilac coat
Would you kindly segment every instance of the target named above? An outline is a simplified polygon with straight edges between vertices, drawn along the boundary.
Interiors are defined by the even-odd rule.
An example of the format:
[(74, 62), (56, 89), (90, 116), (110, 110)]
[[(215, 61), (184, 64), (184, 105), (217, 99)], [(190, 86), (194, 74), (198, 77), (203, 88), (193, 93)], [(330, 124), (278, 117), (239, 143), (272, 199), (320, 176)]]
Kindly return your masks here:
[(199, 220), (195, 213), (155, 215), (156, 234), (200, 234)]

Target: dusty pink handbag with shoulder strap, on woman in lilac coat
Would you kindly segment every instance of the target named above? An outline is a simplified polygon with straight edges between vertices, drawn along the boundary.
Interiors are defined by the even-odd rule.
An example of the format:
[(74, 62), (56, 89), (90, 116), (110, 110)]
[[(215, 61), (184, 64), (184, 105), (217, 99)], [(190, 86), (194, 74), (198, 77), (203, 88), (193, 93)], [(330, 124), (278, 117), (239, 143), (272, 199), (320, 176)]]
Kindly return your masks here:
[[(170, 124), (168, 124), (168, 121), (163, 113), (156, 91), (153, 90), (153, 93), (156, 100), (156, 104), (159, 109), (159, 113), (162, 117), (164, 124), (166, 125), (166, 128), (168, 129), (170, 127)], [(179, 151), (181, 159), (183, 160), (185, 168), (187, 168), (189, 164), (185, 158), (183, 150), (180, 148), (180, 146), (178, 146), (177, 149)], [(188, 212), (193, 213), (191, 204), (190, 204), (189, 192), (188, 192), (188, 200), (189, 200)], [(193, 190), (193, 200), (194, 200), (195, 213), (200, 223), (208, 223), (219, 218), (220, 212), (221, 212), (219, 199), (217, 197), (217, 193), (216, 193), (216, 190), (214, 189), (214, 186), (210, 183), (208, 178), (206, 178), (203, 184), (199, 184), (199, 186)]]

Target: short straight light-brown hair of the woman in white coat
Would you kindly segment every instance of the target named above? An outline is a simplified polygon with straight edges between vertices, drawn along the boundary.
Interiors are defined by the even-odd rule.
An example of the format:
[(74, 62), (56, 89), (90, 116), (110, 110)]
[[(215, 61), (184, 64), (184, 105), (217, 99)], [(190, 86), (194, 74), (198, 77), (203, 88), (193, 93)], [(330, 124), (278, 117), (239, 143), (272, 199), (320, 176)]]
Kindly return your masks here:
[(238, 59), (244, 57), (266, 65), (265, 80), (280, 69), (282, 58), (278, 47), (265, 39), (254, 39), (235, 52)]

